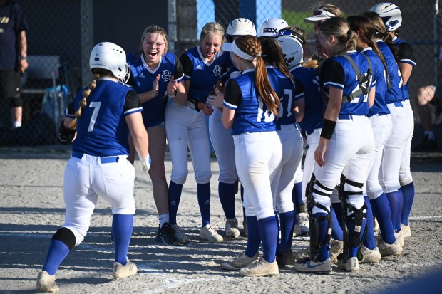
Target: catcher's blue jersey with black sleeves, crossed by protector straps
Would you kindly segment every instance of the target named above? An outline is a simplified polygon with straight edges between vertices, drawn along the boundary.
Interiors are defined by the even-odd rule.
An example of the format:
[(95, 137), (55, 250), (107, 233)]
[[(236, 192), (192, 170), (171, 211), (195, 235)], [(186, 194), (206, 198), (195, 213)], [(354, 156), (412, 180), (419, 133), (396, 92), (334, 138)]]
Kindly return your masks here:
[[(369, 63), (362, 53), (349, 51), (346, 54), (353, 59), (361, 73), (367, 73), (369, 70)], [(320, 69), (319, 83), (327, 95), (329, 93), (329, 88), (341, 89), (344, 97), (351, 95), (351, 93), (354, 93), (354, 91), (359, 89), (359, 83), (356, 78), (356, 70), (354, 70), (351, 63), (349, 63), (344, 56), (332, 56), (327, 59), (325, 65)], [(371, 85), (369, 88), (371, 88)], [(344, 98), (339, 115), (368, 116), (368, 95), (361, 94), (351, 100), (351, 102), (347, 102)]]

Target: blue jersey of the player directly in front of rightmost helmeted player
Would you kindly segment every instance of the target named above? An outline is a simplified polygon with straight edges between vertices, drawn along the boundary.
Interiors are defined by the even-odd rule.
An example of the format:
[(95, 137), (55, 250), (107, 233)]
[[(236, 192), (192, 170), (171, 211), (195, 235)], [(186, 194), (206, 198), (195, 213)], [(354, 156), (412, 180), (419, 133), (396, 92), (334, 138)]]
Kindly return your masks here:
[(401, 70), (399, 70), (399, 66), (396, 63), (396, 59), (394, 58), (389, 46), (382, 40), (377, 40), (376, 45), (379, 47), (379, 51), (381, 51), (382, 55), (384, 56), (387, 70), (389, 71), (390, 86), (387, 87), (385, 102), (387, 104), (400, 102), (402, 100), (400, 88), (402, 85)]

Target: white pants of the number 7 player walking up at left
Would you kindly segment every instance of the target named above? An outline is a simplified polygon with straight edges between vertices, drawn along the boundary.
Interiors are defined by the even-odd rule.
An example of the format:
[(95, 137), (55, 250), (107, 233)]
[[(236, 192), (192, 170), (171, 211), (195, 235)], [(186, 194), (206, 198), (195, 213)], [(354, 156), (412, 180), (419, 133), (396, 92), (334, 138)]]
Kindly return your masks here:
[(135, 169), (127, 155), (118, 156), (118, 162), (101, 163), (101, 160), (88, 154), (83, 154), (82, 158), (71, 157), (64, 172), (66, 216), (63, 227), (76, 236), (76, 246), (91, 226), (98, 196), (111, 204), (113, 214), (135, 214)]

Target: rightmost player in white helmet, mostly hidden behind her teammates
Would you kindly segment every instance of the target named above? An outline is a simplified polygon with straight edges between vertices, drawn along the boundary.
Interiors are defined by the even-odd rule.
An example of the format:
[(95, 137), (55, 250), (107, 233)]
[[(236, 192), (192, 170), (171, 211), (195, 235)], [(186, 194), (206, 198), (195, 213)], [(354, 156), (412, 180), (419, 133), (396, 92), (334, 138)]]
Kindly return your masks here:
[[(399, 213), (394, 224), (396, 231), (401, 231), (401, 237), (405, 238), (411, 236), (410, 226), (408, 224), (408, 217), (410, 216), (411, 206), (413, 206), (414, 199), (414, 184), (413, 177), (411, 177), (410, 170), (410, 155), (411, 155), (411, 140), (414, 131), (414, 117), (413, 110), (410, 105), (410, 95), (408, 95), (408, 80), (411, 76), (414, 66), (416, 66), (416, 58), (413, 54), (413, 48), (406, 41), (398, 37), (399, 28), (402, 22), (401, 10), (398, 6), (392, 3), (376, 4), (370, 9), (381, 16), (384, 21), (386, 29), (393, 38), (394, 45), (399, 49), (399, 69), (402, 76), (402, 100), (404, 100), (404, 108), (408, 114), (408, 125), (411, 128), (406, 130), (408, 132), (408, 140), (402, 152), (401, 169), (399, 170), (399, 182), (401, 188), (399, 189)], [(404, 229), (404, 230), (402, 230)]]

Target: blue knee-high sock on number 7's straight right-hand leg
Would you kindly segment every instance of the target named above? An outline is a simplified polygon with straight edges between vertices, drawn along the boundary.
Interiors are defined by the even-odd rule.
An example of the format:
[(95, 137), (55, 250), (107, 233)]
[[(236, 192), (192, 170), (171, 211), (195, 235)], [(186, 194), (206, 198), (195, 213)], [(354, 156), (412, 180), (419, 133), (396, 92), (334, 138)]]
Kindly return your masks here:
[(130, 237), (133, 231), (133, 214), (114, 214), (112, 217), (113, 246), (115, 261), (126, 264)]

